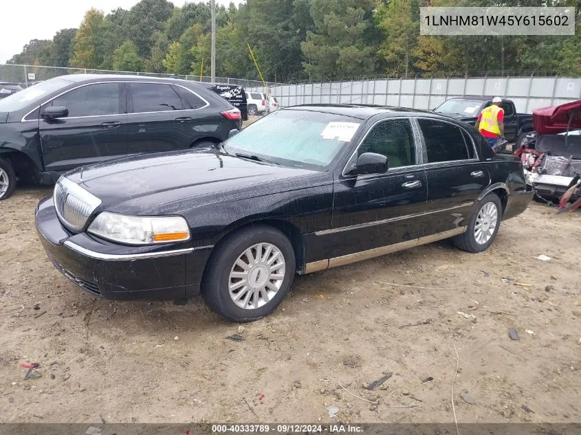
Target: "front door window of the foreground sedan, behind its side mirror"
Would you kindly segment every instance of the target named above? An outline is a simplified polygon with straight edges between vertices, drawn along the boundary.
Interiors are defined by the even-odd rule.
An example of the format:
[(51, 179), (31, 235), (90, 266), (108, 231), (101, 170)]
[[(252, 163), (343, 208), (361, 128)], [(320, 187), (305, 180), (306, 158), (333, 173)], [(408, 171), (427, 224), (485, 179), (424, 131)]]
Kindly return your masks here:
[(415, 145), (409, 120), (386, 120), (369, 132), (358, 150), (382, 154), (389, 159), (389, 168), (415, 165)]

